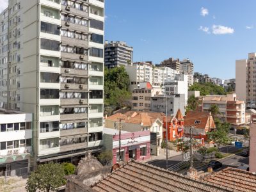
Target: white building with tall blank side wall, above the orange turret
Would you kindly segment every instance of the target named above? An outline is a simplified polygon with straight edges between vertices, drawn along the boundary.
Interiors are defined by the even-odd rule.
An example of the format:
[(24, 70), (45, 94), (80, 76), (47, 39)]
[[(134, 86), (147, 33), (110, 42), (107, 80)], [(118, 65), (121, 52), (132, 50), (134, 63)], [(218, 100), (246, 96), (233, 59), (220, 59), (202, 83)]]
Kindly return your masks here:
[(174, 80), (164, 83), (164, 93), (166, 95), (185, 95), (185, 106), (188, 102), (188, 75), (177, 74)]

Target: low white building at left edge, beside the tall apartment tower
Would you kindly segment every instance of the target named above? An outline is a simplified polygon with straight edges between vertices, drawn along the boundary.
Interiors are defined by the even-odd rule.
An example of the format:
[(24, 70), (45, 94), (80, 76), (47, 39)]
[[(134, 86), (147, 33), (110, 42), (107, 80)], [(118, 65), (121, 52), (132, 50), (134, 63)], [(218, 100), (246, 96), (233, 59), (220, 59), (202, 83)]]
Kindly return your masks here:
[(32, 114), (0, 109), (0, 172), (28, 172), (32, 130)]

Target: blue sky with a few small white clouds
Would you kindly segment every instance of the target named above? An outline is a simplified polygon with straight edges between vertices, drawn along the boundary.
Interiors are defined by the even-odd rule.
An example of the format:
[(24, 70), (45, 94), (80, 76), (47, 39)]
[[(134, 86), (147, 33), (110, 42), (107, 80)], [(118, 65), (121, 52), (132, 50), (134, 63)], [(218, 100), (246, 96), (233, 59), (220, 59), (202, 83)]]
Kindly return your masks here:
[(256, 51), (255, 0), (106, 0), (106, 40), (134, 48), (133, 61), (189, 58), (195, 72), (236, 76)]

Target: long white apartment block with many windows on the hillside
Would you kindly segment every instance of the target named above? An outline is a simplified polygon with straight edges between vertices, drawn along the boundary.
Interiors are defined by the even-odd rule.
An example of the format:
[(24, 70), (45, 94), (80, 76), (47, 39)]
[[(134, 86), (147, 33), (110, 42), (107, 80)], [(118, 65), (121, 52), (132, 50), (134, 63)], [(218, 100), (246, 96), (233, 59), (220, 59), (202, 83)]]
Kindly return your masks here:
[(164, 82), (171, 81), (179, 74), (170, 67), (155, 67), (152, 62), (137, 62), (125, 66), (129, 75), (129, 89), (140, 88), (140, 82), (149, 82), (153, 87), (161, 87)]

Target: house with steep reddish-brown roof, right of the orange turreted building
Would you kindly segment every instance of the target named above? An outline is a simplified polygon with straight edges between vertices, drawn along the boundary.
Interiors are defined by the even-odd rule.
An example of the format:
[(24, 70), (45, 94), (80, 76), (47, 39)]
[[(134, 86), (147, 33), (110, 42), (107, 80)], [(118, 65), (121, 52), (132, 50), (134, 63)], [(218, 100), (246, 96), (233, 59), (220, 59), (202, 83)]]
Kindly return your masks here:
[(188, 111), (184, 117), (184, 135), (190, 136), (190, 127), (192, 127), (193, 138), (201, 140), (202, 144), (207, 140), (207, 132), (216, 128), (211, 112), (206, 111)]

